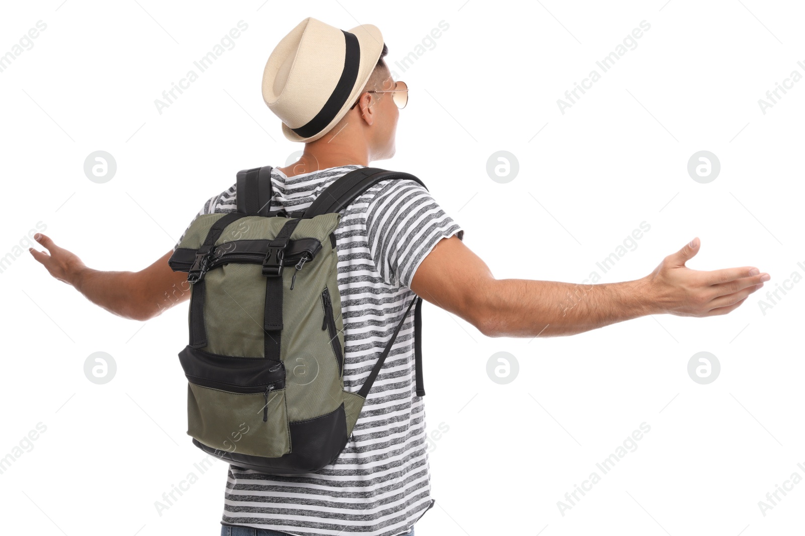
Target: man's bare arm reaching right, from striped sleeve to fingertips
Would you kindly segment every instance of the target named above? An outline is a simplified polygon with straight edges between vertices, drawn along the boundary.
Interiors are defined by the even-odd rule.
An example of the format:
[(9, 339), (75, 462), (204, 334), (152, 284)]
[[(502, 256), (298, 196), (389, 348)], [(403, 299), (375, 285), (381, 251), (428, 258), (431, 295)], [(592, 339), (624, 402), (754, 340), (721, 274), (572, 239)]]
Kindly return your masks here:
[[(497, 280), (483, 260), (455, 236), (441, 239), (411, 280), (419, 297), (464, 318), (488, 337), (555, 337), (597, 329), (648, 314), (709, 317), (729, 313), (761, 288), (768, 274), (753, 267), (712, 272), (684, 263), (686, 244), (646, 277), (604, 284)], [(765, 279), (764, 279), (765, 278)]]

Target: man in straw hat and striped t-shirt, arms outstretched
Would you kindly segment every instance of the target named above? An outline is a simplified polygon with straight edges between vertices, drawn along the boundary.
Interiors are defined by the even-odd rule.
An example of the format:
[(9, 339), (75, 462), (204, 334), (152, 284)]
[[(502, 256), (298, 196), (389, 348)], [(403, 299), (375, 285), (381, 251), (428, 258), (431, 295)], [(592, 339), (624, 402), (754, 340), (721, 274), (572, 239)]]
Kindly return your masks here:
[[(271, 210), (306, 208), (349, 170), (394, 156), (407, 86), (392, 80), (386, 52), (372, 25), (347, 32), (315, 18), (306, 18), (280, 41), (266, 63), (263, 98), (283, 121), (286, 137), (304, 142), (305, 149), (299, 162), (271, 174)], [(236, 197), (233, 185), (210, 198), (199, 214), (235, 211)], [(752, 267), (686, 268), (699, 250), (698, 239), (639, 280), (582, 286), (497, 280), (463, 235), (411, 180), (378, 182), (342, 211), (336, 250), (345, 389), (361, 387), (415, 295), (489, 337), (530, 338), (581, 333), (647, 314), (725, 314), (769, 280)], [(99, 272), (49, 237), (39, 235), (37, 241), (50, 254), (31, 254), (52, 276), (119, 316), (145, 321), (190, 297), (187, 274), (167, 264), (173, 250), (140, 272)], [(423, 399), (414, 388), (412, 332), (411, 318), (333, 464), (295, 477), (230, 466), (221, 534), (414, 534), (415, 522), (434, 500)]]

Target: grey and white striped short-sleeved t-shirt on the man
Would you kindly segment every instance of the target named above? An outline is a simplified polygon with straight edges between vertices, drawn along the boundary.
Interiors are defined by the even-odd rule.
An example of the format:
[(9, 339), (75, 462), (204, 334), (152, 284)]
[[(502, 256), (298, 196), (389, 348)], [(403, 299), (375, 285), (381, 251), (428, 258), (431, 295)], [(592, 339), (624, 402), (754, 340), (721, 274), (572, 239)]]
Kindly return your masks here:
[[(291, 178), (275, 168), (270, 210), (307, 208), (337, 178), (361, 167), (332, 167)], [(199, 215), (236, 211), (236, 186), (210, 198)], [(386, 179), (341, 211), (335, 235), (344, 387), (356, 392), (416, 297), (410, 285), (419, 263), (440, 239), (463, 239), (464, 230), (419, 183)], [(221, 524), (296, 535), (410, 532), (436, 503), (430, 493), (425, 408), (423, 397), (416, 395), (414, 362), (411, 310), (336, 461), (316, 473), (285, 477), (230, 465)]]

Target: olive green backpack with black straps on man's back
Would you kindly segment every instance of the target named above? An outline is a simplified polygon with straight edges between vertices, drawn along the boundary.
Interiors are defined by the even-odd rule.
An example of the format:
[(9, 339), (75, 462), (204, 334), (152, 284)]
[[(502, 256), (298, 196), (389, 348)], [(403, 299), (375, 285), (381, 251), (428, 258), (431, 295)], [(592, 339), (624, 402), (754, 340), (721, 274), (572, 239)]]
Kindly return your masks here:
[(198, 216), (168, 261), (188, 272), (193, 444), (242, 468), (313, 473), (332, 464), (411, 307), (416, 394), (423, 396), (422, 298), (415, 296), (357, 392), (344, 388), (344, 322), (335, 230), (340, 211), (376, 182), (411, 174), (359, 168), (303, 211), (269, 211), (271, 167), (237, 174), (237, 211)]

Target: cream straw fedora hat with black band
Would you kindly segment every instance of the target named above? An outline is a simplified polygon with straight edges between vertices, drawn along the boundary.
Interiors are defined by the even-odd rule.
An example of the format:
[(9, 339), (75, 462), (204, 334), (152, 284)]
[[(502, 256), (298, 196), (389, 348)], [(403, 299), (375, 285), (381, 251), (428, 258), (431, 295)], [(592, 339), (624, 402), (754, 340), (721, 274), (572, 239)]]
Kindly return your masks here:
[(262, 73), (262, 99), (291, 141), (315, 141), (345, 116), (383, 50), (378, 27), (349, 31), (305, 18), (283, 37)]

